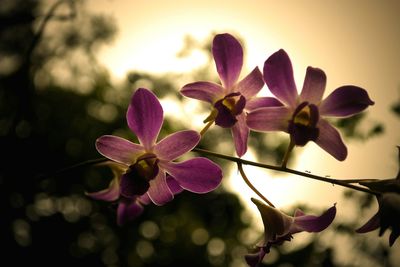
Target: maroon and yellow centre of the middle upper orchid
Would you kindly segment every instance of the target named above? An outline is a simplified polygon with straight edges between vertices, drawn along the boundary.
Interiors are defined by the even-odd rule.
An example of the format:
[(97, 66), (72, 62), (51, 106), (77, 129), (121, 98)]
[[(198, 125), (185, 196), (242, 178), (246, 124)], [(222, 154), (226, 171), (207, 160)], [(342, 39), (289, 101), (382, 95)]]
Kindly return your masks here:
[(246, 105), (246, 98), (240, 93), (231, 93), (214, 104), (218, 111), (215, 124), (230, 128), (237, 122), (236, 116), (240, 115)]

